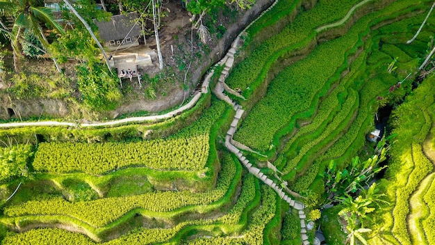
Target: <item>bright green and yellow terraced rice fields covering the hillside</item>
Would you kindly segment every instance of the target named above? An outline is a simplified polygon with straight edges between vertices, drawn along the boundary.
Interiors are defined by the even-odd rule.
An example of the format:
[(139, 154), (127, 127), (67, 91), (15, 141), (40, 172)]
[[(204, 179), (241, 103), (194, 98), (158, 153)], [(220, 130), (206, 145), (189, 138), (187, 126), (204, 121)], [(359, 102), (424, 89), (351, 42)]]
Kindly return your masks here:
[[(388, 130), (397, 134), (379, 181), (389, 205), (366, 238), (433, 244), (435, 79), (413, 81), (435, 18), (405, 44), (430, 4), (279, 0), (231, 53), (225, 83), (242, 88), (246, 100), (230, 100), (243, 111), (207, 93), (188, 116), (167, 122), (89, 129), (95, 137), (74, 132), (69, 140), (69, 129), (43, 129), (49, 140), (33, 145), (33, 177), (0, 185), (2, 244), (312, 243), (305, 220), (321, 202), (312, 205), (310, 195), (326, 200), (322, 173), (331, 160), (343, 168), (373, 154), (366, 134), (386, 104), (395, 105)], [(228, 128), (240, 155), (225, 148)], [(30, 139), (37, 131), (2, 135)]]

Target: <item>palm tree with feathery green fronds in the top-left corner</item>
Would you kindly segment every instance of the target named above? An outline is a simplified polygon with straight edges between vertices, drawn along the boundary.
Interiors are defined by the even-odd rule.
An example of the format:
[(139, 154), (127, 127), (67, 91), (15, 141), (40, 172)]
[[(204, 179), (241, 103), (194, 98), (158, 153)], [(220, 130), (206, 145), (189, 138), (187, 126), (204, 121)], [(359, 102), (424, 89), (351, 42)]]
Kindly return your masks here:
[[(35, 1), (31, 0), (11, 0), (11, 1), (0, 1), (0, 10), (5, 13), (5, 15), (12, 16), (15, 19), (15, 23), (11, 31), (5, 29), (3, 26), (1, 31), (6, 32), (10, 38), (11, 46), (14, 52), (14, 65), (17, 69), (15, 58), (20, 53), (19, 52), (19, 40), (22, 39), (22, 33), (24, 30), (28, 29), (35, 35), (36, 38), (41, 42), (44, 49), (48, 49), (49, 43), (47, 38), (45, 38), (44, 32), (42, 31), (42, 24), (48, 24), (53, 27), (58, 33), (64, 34), (62, 27), (54, 20), (53, 14), (49, 8), (44, 8), (37, 6)], [(56, 58), (53, 58), (56, 69), (61, 72)]]

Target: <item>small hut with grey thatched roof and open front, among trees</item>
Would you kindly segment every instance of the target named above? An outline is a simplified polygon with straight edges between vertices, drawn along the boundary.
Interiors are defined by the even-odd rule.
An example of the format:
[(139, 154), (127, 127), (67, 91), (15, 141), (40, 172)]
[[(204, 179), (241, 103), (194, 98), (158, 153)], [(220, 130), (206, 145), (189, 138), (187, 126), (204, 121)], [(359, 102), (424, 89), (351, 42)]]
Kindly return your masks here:
[(94, 19), (94, 23), (98, 26), (105, 47), (109, 50), (125, 49), (139, 45), (140, 25), (136, 23), (137, 18), (136, 13), (129, 13), (113, 15), (108, 22)]

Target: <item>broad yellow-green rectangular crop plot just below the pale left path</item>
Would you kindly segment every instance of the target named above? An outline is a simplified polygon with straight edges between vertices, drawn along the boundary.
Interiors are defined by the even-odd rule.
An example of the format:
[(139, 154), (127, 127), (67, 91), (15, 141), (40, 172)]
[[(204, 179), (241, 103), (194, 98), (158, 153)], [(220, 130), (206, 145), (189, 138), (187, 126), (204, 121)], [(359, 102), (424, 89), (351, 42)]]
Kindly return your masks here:
[(224, 109), (223, 102), (214, 102), (195, 123), (167, 139), (129, 143), (40, 143), (33, 167), (42, 172), (91, 175), (129, 166), (199, 171), (206, 165), (209, 141), (213, 140), (208, 134)]

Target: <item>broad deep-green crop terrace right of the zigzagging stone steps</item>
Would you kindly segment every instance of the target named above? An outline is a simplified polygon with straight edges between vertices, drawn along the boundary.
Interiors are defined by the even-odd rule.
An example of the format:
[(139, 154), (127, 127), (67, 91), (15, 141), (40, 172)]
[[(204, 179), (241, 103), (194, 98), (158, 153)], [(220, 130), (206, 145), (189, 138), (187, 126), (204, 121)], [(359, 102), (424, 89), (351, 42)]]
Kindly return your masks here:
[[(333, 82), (330, 78), (338, 72), (345, 61), (345, 52), (354, 44), (352, 38), (325, 42), (304, 60), (281, 71), (270, 83), (265, 97), (240, 125), (235, 140), (255, 149), (268, 150), (279, 129), (288, 125), (296, 113), (308, 110), (320, 97), (319, 93), (327, 92)], [(258, 122), (258, 118), (262, 119)]]

